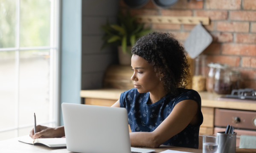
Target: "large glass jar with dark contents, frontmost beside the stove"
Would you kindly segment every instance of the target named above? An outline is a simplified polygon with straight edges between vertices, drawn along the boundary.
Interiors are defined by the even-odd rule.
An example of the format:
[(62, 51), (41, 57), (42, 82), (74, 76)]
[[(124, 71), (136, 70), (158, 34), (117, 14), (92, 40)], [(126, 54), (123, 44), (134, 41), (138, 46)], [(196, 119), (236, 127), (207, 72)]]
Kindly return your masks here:
[(216, 94), (230, 94), (231, 83), (229, 66), (225, 64), (216, 65), (215, 81), (214, 81), (214, 92)]

